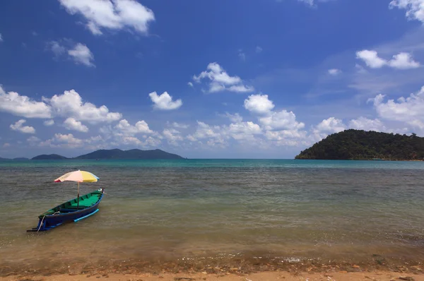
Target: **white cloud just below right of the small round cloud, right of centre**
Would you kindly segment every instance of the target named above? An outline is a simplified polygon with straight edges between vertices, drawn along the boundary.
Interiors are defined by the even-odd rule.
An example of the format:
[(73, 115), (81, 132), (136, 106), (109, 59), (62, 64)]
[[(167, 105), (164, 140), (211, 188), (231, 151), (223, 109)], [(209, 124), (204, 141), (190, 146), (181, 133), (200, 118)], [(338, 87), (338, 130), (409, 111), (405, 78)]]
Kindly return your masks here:
[(268, 131), (298, 130), (305, 127), (305, 124), (296, 121), (296, 115), (293, 112), (286, 110), (272, 112), (268, 116), (260, 117), (259, 121)]

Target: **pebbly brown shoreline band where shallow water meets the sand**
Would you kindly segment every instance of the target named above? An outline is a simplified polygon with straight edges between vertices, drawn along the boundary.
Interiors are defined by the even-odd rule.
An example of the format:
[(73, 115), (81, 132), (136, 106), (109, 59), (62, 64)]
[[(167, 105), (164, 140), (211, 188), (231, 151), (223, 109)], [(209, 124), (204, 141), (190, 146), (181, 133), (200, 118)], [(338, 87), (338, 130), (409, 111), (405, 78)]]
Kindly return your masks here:
[[(199, 266), (192, 263), (97, 263), (81, 266), (69, 262), (67, 266), (50, 264), (44, 268), (11, 268), (0, 265), (0, 280), (423, 280), (423, 263), (416, 261), (402, 265), (386, 263), (283, 263), (257, 265), (220, 263)], [(8, 268), (8, 269), (6, 269)], [(382, 279), (385, 276), (387, 279)], [(240, 279), (242, 277), (242, 279)], [(398, 279), (413, 277), (414, 279)], [(419, 279), (417, 279), (420, 277)], [(90, 279), (91, 278), (91, 279)], [(93, 279), (95, 278), (95, 279)], [(182, 279), (177, 279), (182, 278)], [(185, 279), (184, 279), (185, 278)], [(205, 279), (206, 278), (206, 279)], [(302, 279), (303, 278), (303, 279)], [(322, 279), (324, 278), (324, 279)], [(333, 279), (329, 279), (333, 278)], [(358, 279), (357, 279), (358, 278)], [(374, 278), (374, 279), (373, 279)]]

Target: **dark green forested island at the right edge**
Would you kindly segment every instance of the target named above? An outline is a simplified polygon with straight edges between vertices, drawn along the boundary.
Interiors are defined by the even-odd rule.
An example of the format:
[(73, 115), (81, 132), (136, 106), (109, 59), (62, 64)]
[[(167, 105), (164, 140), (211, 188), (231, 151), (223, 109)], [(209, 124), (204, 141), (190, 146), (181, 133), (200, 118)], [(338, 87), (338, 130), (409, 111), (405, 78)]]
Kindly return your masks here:
[(295, 159), (424, 160), (424, 138), (350, 129), (327, 136)]

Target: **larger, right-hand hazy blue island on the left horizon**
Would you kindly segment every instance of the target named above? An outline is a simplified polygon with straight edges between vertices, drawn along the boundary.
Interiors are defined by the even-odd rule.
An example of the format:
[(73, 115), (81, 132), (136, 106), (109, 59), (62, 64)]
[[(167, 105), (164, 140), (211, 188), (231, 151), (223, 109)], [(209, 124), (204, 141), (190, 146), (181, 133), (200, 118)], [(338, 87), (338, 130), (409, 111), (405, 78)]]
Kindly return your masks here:
[(160, 149), (155, 150), (96, 150), (93, 153), (81, 155), (74, 159), (184, 159), (183, 157), (167, 153)]

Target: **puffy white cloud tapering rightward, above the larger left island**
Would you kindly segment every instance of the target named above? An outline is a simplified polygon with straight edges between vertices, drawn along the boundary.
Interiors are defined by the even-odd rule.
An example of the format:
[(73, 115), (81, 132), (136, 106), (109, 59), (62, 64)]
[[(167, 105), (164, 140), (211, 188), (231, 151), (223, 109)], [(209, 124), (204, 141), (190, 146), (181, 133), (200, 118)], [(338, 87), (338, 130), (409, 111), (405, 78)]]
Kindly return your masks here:
[(109, 112), (105, 105), (96, 107), (90, 102), (83, 102), (75, 90), (65, 91), (63, 95), (54, 95), (49, 102), (58, 116), (73, 117), (78, 121), (111, 122), (122, 118), (122, 114)]

